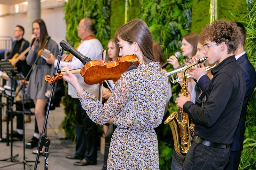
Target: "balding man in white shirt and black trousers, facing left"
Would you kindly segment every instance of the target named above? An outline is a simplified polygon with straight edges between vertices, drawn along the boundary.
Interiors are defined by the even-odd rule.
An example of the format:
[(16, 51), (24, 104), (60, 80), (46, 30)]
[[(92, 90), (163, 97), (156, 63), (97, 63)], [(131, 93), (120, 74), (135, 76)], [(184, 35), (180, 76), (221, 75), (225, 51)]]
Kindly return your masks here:
[[(76, 49), (83, 54), (91, 58), (92, 60), (101, 60), (102, 45), (100, 41), (93, 35), (94, 23), (90, 18), (83, 18), (77, 26), (78, 37), (81, 39), (81, 43)], [(68, 63), (67, 58), (71, 59)], [(51, 54), (46, 59), (48, 64), (57, 66), (56, 58)], [(83, 63), (73, 55), (68, 55), (64, 61), (60, 62), (60, 68), (64, 68), (69, 65), (71, 69), (78, 69), (84, 67)], [(81, 74), (76, 74), (79, 83), (91, 92), (94, 96), (98, 96), (99, 85), (87, 85), (84, 83), (84, 78)], [(68, 83), (68, 95), (76, 100), (76, 153), (67, 155), (68, 159), (80, 159), (75, 162), (74, 165), (86, 166), (97, 164), (97, 126), (96, 123), (88, 117), (85, 110), (82, 108), (81, 103), (76, 94), (75, 88)]]

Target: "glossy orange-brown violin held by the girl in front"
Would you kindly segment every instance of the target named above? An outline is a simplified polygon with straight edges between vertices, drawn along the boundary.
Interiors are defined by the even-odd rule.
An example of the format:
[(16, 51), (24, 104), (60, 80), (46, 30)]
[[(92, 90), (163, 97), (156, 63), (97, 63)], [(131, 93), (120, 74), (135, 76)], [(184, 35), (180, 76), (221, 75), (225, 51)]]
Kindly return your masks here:
[[(135, 55), (126, 55), (117, 57), (115, 61), (105, 62), (105, 60), (92, 60), (84, 65), (84, 68), (70, 70), (71, 73), (80, 73), (84, 78), (84, 82), (88, 85), (102, 83), (104, 80), (113, 80), (116, 82), (121, 75), (132, 65), (139, 65), (139, 60)], [(53, 75), (45, 76), (47, 83), (54, 83), (58, 79), (67, 75), (65, 71), (60, 71)]]

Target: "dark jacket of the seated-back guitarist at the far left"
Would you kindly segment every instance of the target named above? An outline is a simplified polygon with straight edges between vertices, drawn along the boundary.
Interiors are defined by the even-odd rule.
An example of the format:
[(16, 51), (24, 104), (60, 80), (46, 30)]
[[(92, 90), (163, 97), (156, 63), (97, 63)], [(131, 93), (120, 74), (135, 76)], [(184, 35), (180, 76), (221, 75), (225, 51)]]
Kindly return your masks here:
[[(23, 40), (24, 40), (24, 39), (23, 39)], [(23, 45), (21, 52), (25, 51), (25, 50), (29, 47), (29, 42), (26, 41), (26, 40), (24, 40), (24, 41), (25, 41), (25, 44)], [(13, 55), (15, 55), (15, 54), (13, 54), (13, 48), (15, 47), (16, 42), (17, 42), (17, 40), (12, 42), (12, 51), (11, 51), (11, 56), (10, 56), (10, 58), (12, 58)], [(20, 52), (20, 53), (21, 53), (21, 52)], [(28, 53), (26, 54), (26, 56), (27, 56), (27, 55), (28, 55)], [(22, 75), (23, 75), (24, 77), (27, 76), (28, 71), (29, 71), (30, 68), (31, 68), (31, 66), (28, 66), (26, 60), (24, 60), (24, 61), (21, 61), (21, 60), (18, 61), (18, 62), (16, 63), (16, 67), (17, 67), (17, 70), (18, 70), (20, 73), (22, 73)]]

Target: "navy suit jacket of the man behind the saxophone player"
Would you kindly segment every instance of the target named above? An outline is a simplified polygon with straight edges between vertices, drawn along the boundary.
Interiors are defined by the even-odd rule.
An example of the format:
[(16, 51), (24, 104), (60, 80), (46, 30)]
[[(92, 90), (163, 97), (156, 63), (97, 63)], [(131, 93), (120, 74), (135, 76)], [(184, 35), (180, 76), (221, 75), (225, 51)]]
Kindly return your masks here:
[[(243, 150), (243, 142), (244, 142), (244, 130), (245, 130), (245, 116), (248, 101), (252, 95), (253, 89), (255, 87), (255, 69), (248, 60), (248, 56), (245, 53), (237, 60), (237, 63), (244, 71), (245, 83), (246, 83), (246, 93), (243, 102), (243, 108), (241, 111), (241, 116), (237, 125), (237, 129), (233, 138), (233, 143), (231, 145), (230, 151), (242, 151)], [(208, 83), (210, 82), (210, 78), (207, 75), (202, 76), (198, 82), (197, 86), (203, 91)]]

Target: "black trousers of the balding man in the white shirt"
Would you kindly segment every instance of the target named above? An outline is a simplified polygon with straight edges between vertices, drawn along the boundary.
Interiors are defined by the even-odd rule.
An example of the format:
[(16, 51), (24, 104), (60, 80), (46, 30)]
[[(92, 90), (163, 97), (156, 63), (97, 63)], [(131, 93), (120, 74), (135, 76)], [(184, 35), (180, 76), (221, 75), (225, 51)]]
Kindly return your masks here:
[(76, 99), (76, 155), (96, 164), (97, 151), (97, 125), (82, 108), (80, 100)]

